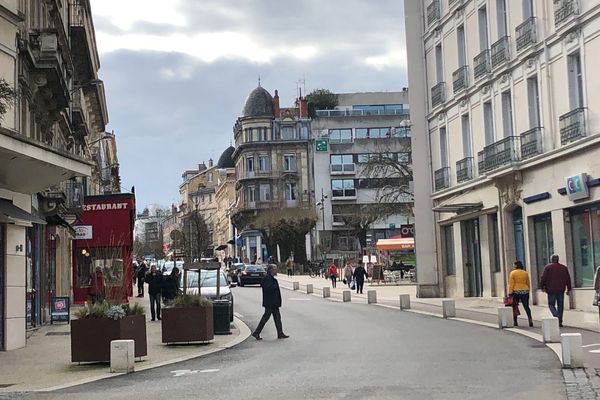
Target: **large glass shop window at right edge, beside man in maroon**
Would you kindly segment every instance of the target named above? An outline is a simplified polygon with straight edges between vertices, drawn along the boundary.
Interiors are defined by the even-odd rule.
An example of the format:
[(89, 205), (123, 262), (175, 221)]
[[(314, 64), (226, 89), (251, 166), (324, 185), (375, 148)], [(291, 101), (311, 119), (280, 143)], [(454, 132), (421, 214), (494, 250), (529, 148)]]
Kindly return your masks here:
[(590, 287), (600, 264), (600, 203), (573, 208), (570, 216), (575, 286)]

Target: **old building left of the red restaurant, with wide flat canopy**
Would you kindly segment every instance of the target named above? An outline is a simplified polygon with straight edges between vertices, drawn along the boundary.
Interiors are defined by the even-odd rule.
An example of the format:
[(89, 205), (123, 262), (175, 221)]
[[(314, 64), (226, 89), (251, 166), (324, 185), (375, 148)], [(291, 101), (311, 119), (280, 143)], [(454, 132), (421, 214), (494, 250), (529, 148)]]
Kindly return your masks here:
[(99, 190), (108, 117), (89, 1), (0, 5), (0, 77), (17, 94), (0, 126), (0, 349), (11, 350), (47, 321), (51, 296), (72, 295), (72, 225)]

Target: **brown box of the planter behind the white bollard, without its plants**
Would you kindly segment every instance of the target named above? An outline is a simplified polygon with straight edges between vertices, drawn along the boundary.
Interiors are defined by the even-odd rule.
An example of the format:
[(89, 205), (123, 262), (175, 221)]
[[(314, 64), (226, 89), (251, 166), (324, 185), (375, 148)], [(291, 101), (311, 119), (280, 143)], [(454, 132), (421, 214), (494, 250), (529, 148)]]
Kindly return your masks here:
[(84, 318), (71, 321), (71, 361), (110, 362), (112, 340), (135, 340), (135, 356), (148, 354), (146, 342), (146, 316), (130, 315), (114, 320)]

